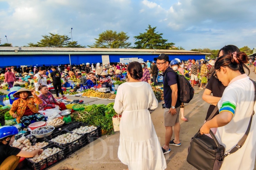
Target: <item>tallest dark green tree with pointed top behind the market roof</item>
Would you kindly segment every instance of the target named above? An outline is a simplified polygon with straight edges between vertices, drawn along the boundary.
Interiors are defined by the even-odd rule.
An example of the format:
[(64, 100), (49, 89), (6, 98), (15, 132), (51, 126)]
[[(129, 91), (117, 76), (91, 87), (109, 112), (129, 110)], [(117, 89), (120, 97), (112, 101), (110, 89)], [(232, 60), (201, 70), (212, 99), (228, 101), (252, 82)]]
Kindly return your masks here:
[(135, 42), (137, 49), (170, 49), (174, 46), (174, 43), (167, 43), (168, 40), (163, 39), (163, 33), (155, 32), (156, 27), (148, 25), (146, 32), (139, 33), (139, 36), (134, 38), (138, 41)]

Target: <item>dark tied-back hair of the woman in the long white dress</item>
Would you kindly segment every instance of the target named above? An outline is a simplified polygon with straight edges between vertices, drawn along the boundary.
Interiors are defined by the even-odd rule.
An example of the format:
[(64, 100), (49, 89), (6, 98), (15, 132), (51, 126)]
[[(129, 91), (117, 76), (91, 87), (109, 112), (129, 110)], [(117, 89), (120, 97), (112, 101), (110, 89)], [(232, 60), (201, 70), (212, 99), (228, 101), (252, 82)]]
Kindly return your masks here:
[(133, 78), (135, 80), (139, 80), (143, 76), (142, 66), (137, 61), (133, 61), (133, 62), (129, 63), (127, 70), (129, 71), (131, 78)]

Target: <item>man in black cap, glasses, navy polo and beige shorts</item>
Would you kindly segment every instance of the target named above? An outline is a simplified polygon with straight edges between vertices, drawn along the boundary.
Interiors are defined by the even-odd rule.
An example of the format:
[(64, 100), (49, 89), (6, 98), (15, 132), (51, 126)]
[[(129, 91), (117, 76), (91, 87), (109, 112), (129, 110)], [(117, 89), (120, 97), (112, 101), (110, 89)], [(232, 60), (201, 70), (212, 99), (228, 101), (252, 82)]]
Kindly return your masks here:
[[(164, 102), (165, 102), (165, 113), (164, 113), (164, 126), (165, 126), (165, 144), (162, 147), (163, 153), (171, 152), (169, 145), (180, 146), (180, 122), (179, 113), (181, 102), (178, 99), (178, 85), (176, 74), (172, 71), (169, 63), (169, 56), (166, 54), (160, 54), (156, 61), (157, 68), (159, 71), (164, 72)], [(174, 139), (171, 140), (174, 127)]]

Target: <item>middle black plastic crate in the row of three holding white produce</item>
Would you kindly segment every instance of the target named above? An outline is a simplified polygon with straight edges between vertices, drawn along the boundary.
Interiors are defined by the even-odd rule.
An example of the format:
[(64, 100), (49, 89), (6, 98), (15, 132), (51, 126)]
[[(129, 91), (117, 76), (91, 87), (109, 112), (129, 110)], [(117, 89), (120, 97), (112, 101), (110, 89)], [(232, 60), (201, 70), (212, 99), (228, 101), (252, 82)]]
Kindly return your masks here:
[[(60, 131), (59, 133), (56, 133), (52, 136), (49, 136), (49, 137), (46, 137), (44, 139), (48, 140), (48, 141), (51, 141), (51, 139), (57, 137), (58, 135), (62, 135), (62, 134), (66, 134), (66, 133), (70, 133), (70, 131), (68, 130), (62, 130)], [(52, 141), (51, 141), (52, 142)], [(73, 142), (70, 142), (70, 143), (66, 143), (66, 144), (62, 144), (62, 143), (57, 143), (57, 142), (53, 142), (54, 144), (57, 144), (59, 146), (62, 146), (65, 148), (65, 156), (69, 156), (71, 155), (72, 153), (74, 153), (75, 151), (81, 149), (84, 145), (83, 143), (89, 143), (88, 139), (86, 139), (83, 135), (81, 138), (73, 141)]]

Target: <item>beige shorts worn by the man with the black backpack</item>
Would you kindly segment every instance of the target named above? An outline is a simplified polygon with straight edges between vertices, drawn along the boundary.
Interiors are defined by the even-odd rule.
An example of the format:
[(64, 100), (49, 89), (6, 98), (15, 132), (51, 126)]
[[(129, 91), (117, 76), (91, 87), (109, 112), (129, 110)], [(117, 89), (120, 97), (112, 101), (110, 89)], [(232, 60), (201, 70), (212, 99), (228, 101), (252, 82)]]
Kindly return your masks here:
[(180, 119), (180, 109), (181, 107), (176, 108), (176, 114), (172, 115), (171, 113), (168, 113), (170, 109), (165, 108), (164, 112), (164, 126), (174, 126), (175, 123), (179, 122)]

